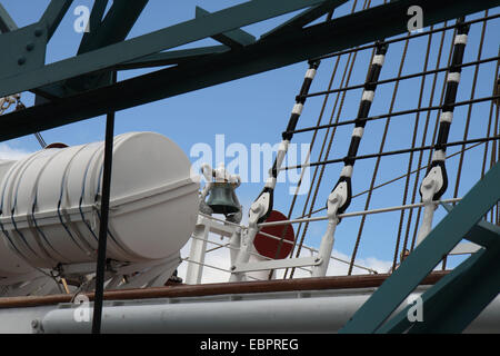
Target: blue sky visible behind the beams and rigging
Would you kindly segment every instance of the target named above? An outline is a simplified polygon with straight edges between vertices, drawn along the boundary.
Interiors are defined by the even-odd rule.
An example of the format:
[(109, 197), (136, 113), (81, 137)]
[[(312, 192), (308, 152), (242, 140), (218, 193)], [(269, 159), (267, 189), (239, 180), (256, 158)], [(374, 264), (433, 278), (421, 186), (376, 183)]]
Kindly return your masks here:
[[(160, 28), (174, 24), (194, 17), (194, 7), (200, 6), (209, 11), (217, 11), (242, 1), (161, 1), (151, 0), (136, 27), (130, 38), (158, 30)], [(379, 4), (382, 1), (373, 1)], [(11, 13), (19, 27), (27, 26), (39, 19), (49, 0), (37, 1), (19, 1), (2, 0), (1, 3)], [(63, 58), (71, 57), (78, 49), (79, 41), (82, 37), (73, 30), (73, 9), (77, 6), (84, 4), (91, 7), (91, 0), (76, 0), (63, 19), (61, 26), (52, 38), (48, 53), (47, 62), (53, 62)], [(350, 11), (352, 1), (342, 6), (336, 12), (341, 16)], [(360, 7), (358, 6), (358, 9)], [(498, 13), (499, 9), (492, 9), (490, 14)], [(292, 14), (282, 16), (277, 19), (268, 20), (262, 23), (253, 24), (244, 28), (256, 37), (268, 31), (273, 26), (281, 23)], [(478, 14), (470, 16), (468, 19), (477, 18)], [(469, 33), (469, 44), (466, 50), (464, 61), (477, 60), (479, 36), (481, 24), (473, 24)], [(498, 56), (500, 21), (494, 19), (488, 22), (484, 47), (481, 58)], [(431, 56), (429, 69), (436, 68), (438, 43), (440, 33), (432, 36)], [(332, 39), (334, 40), (334, 39)], [(428, 37), (411, 40), (407, 53), (407, 60), (402, 70), (402, 75), (421, 71), (423, 68), (423, 58), (427, 47)], [(447, 32), (443, 47), (443, 59), (440, 68), (444, 66), (448, 59), (448, 50), (450, 48), (451, 33)], [(214, 44), (216, 41), (208, 39), (197, 43), (190, 43), (186, 47), (196, 47), (200, 44)], [(399, 61), (401, 59), (403, 42), (391, 44), (386, 58), (386, 65), (382, 69), (380, 79), (393, 78), (397, 75)], [(350, 79), (350, 85), (362, 83), (367, 73), (368, 63), (371, 51), (360, 52), (356, 60), (354, 71)], [(340, 73), (337, 75), (332, 88), (338, 88), (340, 83), (341, 72), (346, 65), (347, 56), (342, 57), (339, 63)], [(323, 60), (318, 76), (311, 87), (311, 92), (326, 90), (334, 59)], [(489, 62), (481, 66), (478, 77), (474, 97), (491, 96), (492, 80), (494, 77), (496, 62)], [(242, 144), (250, 150), (252, 144), (269, 142), (274, 145), (281, 140), (281, 132), (287, 126), (291, 108), (294, 103), (294, 97), (298, 95), (302, 83), (303, 75), (308, 68), (306, 62), (300, 62), (287, 68), (281, 68), (249, 78), (231, 81), (216, 87), (197, 90), (178, 97), (160, 100), (144, 106), (119, 111), (117, 113), (116, 134), (128, 131), (156, 131), (174, 140), (189, 156), (191, 148), (196, 144), (208, 144), (214, 146), (216, 135), (224, 135), (226, 145)], [(127, 71), (119, 75), (119, 79), (137, 76), (144, 71)], [(469, 67), (462, 71), (462, 80), (460, 83), (457, 100), (468, 100), (471, 93), (471, 82), (474, 67)], [(433, 105), (437, 105), (441, 92), (443, 73), (438, 76), (437, 95)], [(414, 108), (417, 106), (418, 93), (421, 79), (406, 80), (400, 83), (394, 111)], [(426, 90), (422, 106), (428, 106), (430, 85), (432, 77), (426, 79)], [(393, 83), (379, 86), (371, 115), (379, 115), (389, 110), (390, 99), (392, 96)], [(344, 99), (343, 108), (340, 113), (341, 120), (354, 119), (358, 110), (361, 90), (351, 90)], [(322, 123), (329, 120), (333, 107), (336, 96), (330, 96), (324, 110)], [(29, 93), (23, 96), (26, 103), (31, 105), (33, 99)], [(310, 98), (306, 103), (302, 117), (299, 122), (300, 127), (308, 127), (316, 123), (323, 97)], [(463, 139), (463, 128), (467, 117), (468, 107), (459, 107), (454, 111), (454, 121), (450, 132), (449, 141)], [(487, 122), (489, 118), (489, 103), (476, 105), (472, 110), (472, 119), (470, 123), (469, 138), (479, 138), (486, 135)], [(337, 116), (337, 112), (336, 112)], [(431, 113), (431, 126), (436, 121), (437, 113)], [(413, 132), (414, 115), (401, 116), (394, 118), (390, 123), (389, 138), (384, 150), (409, 148)], [(422, 126), (426, 113), (420, 117), (420, 126), (417, 137), (417, 146), (421, 142)], [(378, 151), (379, 142), (382, 135), (386, 120), (377, 120), (368, 122), (363, 141), (360, 146), (360, 155), (372, 154)], [(346, 155), (352, 126), (339, 127), (336, 134), (330, 158), (341, 158)], [(68, 145), (81, 145), (89, 141), (101, 140), (104, 135), (104, 119), (102, 117), (72, 123), (57, 129), (42, 132), (46, 141), (63, 141)], [(319, 149), (323, 139), (324, 131), (318, 137), (318, 142), (312, 151), (312, 161), (318, 160)], [(296, 135), (293, 142), (309, 142), (311, 134)], [(430, 145), (430, 138), (426, 140), (426, 145)], [(39, 144), (33, 136), (22, 137), (14, 140), (3, 142), (10, 149), (23, 151), (34, 151), (39, 149)], [(491, 146), (490, 146), (491, 147)], [(448, 152), (452, 154), (458, 148), (449, 148)], [(467, 192), (468, 189), (480, 178), (481, 162), (483, 155), (483, 146), (474, 148), (466, 154), (463, 177), (461, 180), (459, 197)], [(381, 160), (377, 184), (392, 179), (406, 172), (409, 155), (387, 157)], [(490, 157), (490, 156), (488, 156)], [(424, 161), (428, 159), (428, 152), (423, 155)], [(196, 161), (196, 157), (191, 157)], [(231, 160), (228, 158), (227, 164)], [(416, 161), (413, 167), (416, 167)], [(458, 159), (450, 159), (448, 165), (450, 179), (450, 188), (443, 198), (452, 197), (454, 188), (454, 171), (457, 169)], [(374, 159), (360, 160), (354, 167), (353, 192), (359, 192), (368, 188), (373, 170)], [(337, 182), (340, 174), (341, 165), (331, 165), (326, 169), (321, 187), (318, 194), (316, 208), (324, 206), (328, 194)], [(312, 175), (312, 171), (311, 171)], [(421, 180), (422, 177), (420, 177)], [(412, 178), (413, 179), (413, 178)], [(413, 180), (410, 181), (412, 187)], [(402, 202), (404, 180), (399, 180), (388, 187), (377, 190), (373, 194), (370, 208), (380, 208), (389, 206), (398, 206)], [(263, 182), (249, 182), (242, 185), (238, 189), (238, 194), (243, 206), (248, 208), (249, 204), (258, 196)], [(411, 191), (411, 189), (410, 189)], [(292, 197), (288, 194), (288, 185), (279, 184), (277, 188), (276, 208), (288, 212)], [(364, 206), (364, 197), (353, 199), (349, 211), (362, 210)], [(299, 196), (293, 216), (301, 214), (304, 196)], [(442, 209), (438, 210), (437, 219), (443, 216)], [(321, 212), (321, 215), (324, 212)], [(414, 219), (413, 219), (414, 220)], [(360, 218), (344, 219), (339, 226), (336, 237), (336, 250), (340, 254), (350, 255), (352, 251), (358, 225)], [(377, 258), (380, 260), (392, 260), (393, 246), (397, 236), (399, 221), (399, 212), (390, 212), (369, 217), (364, 227), (364, 235), (358, 253), (359, 258)], [(319, 246), (320, 237), (326, 229), (324, 224), (318, 222), (309, 227), (307, 244), (310, 246)]]

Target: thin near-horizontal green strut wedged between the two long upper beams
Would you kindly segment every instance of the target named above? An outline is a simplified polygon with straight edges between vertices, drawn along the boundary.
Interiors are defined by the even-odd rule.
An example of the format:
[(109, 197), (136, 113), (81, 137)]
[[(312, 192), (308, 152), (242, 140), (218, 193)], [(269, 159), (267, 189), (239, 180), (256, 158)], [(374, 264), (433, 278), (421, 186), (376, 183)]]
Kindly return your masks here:
[(117, 70), (128, 70), (138, 68), (150, 68), (160, 66), (171, 66), (177, 65), (187, 60), (199, 59), (204, 56), (217, 55), (229, 51), (228, 46), (209, 46), (209, 47), (198, 47), (182, 50), (173, 50), (161, 53), (156, 53), (147, 56), (144, 58), (139, 58), (130, 62), (118, 65), (113, 69)]

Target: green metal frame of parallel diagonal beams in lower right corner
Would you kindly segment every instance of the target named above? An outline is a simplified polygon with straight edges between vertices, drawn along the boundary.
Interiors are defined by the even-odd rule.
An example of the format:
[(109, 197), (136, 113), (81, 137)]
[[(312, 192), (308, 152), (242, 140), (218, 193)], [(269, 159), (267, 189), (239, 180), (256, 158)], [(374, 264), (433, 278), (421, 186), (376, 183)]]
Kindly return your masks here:
[(500, 288), (500, 235), (486, 224), (472, 235), (489, 231), (488, 248), (474, 253), (422, 296), (423, 323), (410, 325), (409, 307), (387, 320), (463, 237), (470, 238), (474, 226), (500, 199), (499, 181), (500, 162), (436, 226), (340, 333), (401, 333), (409, 328), (410, 333), (462, 332)]

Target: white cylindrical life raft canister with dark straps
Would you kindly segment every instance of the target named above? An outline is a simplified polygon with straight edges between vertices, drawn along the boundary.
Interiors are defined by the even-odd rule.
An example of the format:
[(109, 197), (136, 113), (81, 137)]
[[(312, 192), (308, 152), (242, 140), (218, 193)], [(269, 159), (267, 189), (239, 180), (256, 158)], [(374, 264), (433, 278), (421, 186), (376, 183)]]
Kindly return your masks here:
[[(39, 268), (96, 260), (103, 151), (103, 142), (44, 149), (4, 171), (0, 276), (14, 273), (10, 255)], [(147, 261), (180, 250), (196, 225), (198, 190), (173, 141), (153, 132), (117, 136), (107, 257)]]

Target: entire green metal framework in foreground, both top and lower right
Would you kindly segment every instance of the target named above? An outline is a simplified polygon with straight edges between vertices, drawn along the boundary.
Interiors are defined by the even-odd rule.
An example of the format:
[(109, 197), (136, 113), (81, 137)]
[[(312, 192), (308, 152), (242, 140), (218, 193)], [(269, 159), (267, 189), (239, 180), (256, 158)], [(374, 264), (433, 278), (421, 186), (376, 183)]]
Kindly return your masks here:
[[(0, 6), (0, 30), (9, 32), (0, 34), (0, 41), (3, 39), (3, 43), (22, 42), (21, 46), (27, 49), (30, 47), (32, 36), (43, 42), (42, 46), (39, 46), (40, 43), (36, 46), (38, 52), (33, 53), (38, 53), (37, 60), (32, 61), (34, 57), (32, 53), (26, 55), (29, 57), (29, 66), (21, 67), (26, 60), (22, 61), (19, 57), (12, 56), (9, 59), (11, 60), (7, 62), (9, 70), (0, 72), (0, 96), (31, 90), (49, 99), (49, 102), (3, 116), (0, 123), (4, 129), (0, 134), (0, 140), (404, 33), (407, 9), (410, 6), (422, 7), (424, 26), (430, 26), (500, 4), (500, 0), (398, 0), (303, 28), (346, 1), (253, 0), (213, 13), (198, 8), (197, 18), (193, 20), (124, 40), (147, 2), (148, 0), (138, 0), (130, 7), (130, 2), (114, 0), (110, 11), (102, 19), (108, 0), (96, 0), (90, 18), (90, 26), (96, 30), (83, 36), (76, 57), (51, 65), (44, 65), (40, 60), (39, 51), (40, 48), (46, 50), (47, 42), (53, 36), (72, 0), (51, 0), (40, 21), (22, 29), (16, 28), (16, 23)], [(309, 9), (264, 33), (259, 40), (241, 30), (244, 26), (304, 8)], [(226, 46), (162, 52), (208, 37)], [(107, 83), (106, 80), (90, 86), (88, 82), (73, 92), (69, 92), (63, 86), (64, 81), (84, 83), (89, 78), (106, 78), (116, 69), (170, 63), (178, 66), (106, 87), (101, 87)], [(12, 68), (14, 70), (10, 70)], [(171, 82), (176, 86), (166, 86)], [(341, 332), (463, 330), (494, 298), (500, 286), (499, 228), (480, 221), (499, 200), (499, 181), (500, 164), (493, 167), (431, 231)], [(384, 324), (393, 310), (462, 237), (486, 248), (476, 253), (424, 294), (427, 320), (410, 325), (404, 314), (404, 310), (409, 309), (407, 307)], [(490, 270), (490, 274), (484, 276), (484, 270)], [(467, 293), (468, 297), (454, 298), (450, 303), (450, 296)], [(458, 309), (460, 313), (456, 313)]]

